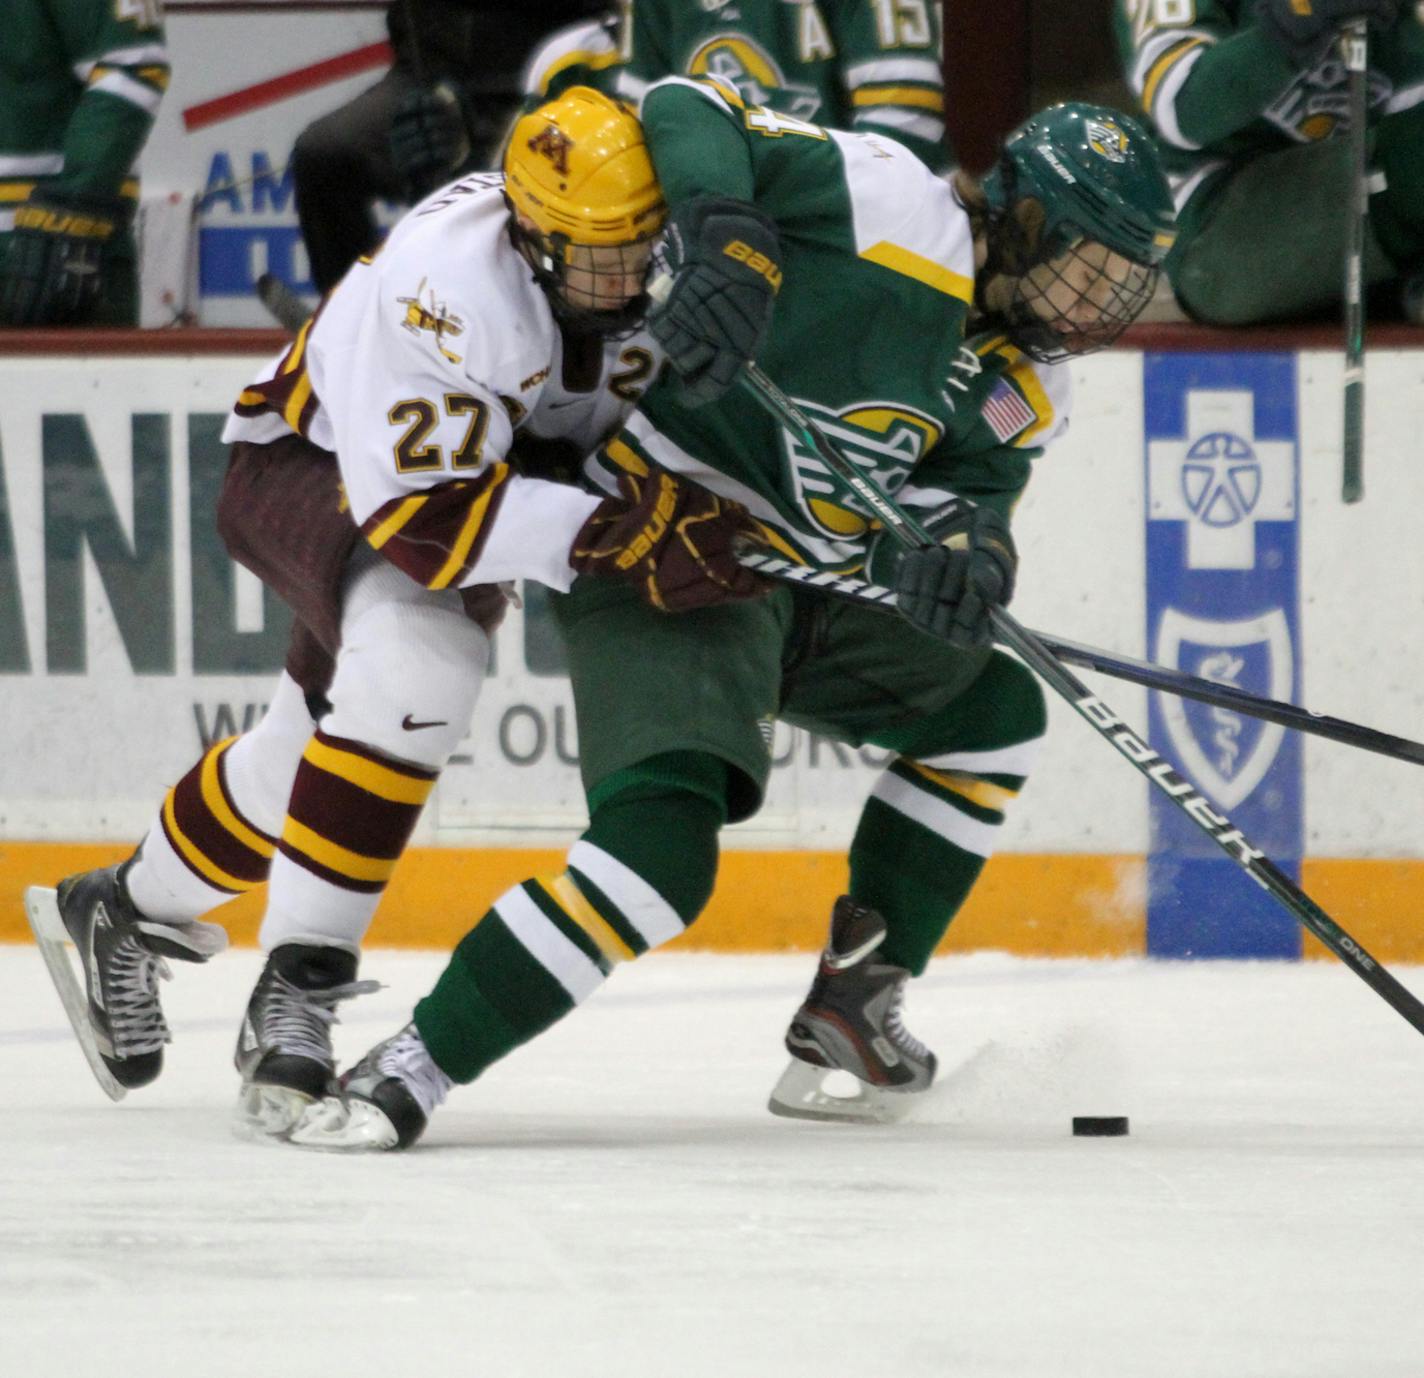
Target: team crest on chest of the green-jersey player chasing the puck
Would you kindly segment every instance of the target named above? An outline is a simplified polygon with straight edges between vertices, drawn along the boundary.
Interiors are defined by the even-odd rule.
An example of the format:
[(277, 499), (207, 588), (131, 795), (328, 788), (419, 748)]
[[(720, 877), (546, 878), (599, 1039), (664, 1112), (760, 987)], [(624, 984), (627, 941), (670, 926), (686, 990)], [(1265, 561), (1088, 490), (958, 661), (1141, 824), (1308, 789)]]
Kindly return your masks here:
[[(886, 493), (896, 493), (920, 458), (938, 444), (940, 423), (891, 401), (863, 401), (832, 411), (813, 401), (800, 406), (840, 451)], [(789, 485), (796, 505), (815, 531), (834, 541), (853, 540), (870, 525), (870, 514), (840, 484), (800, 436), (782, 430)]]

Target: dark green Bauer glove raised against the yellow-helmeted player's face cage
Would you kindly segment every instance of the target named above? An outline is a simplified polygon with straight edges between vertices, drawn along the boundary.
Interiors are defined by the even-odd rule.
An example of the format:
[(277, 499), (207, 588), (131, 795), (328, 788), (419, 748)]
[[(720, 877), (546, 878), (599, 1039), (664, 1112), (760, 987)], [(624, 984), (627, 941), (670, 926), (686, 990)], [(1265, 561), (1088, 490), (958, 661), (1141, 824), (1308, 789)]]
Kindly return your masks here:
[(693, 407), (721, 397), (756, 356), (782, 285), (769, 216), (746, 201), (695, 196), (668, 218), (672, 283), (648, 315)]

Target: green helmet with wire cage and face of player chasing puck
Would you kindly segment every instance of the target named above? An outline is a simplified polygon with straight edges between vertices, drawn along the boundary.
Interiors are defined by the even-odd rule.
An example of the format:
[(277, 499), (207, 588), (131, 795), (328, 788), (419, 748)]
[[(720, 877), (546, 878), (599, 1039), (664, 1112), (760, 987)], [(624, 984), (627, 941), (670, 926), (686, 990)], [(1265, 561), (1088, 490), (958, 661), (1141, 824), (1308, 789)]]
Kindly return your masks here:
[(1041, 111), (1004, 142), (983, 194), (980, 279), (991, 296), (980, 305), (1025, 353), (1057, 360), (1101, 349), (1151, 300), (1176, 214), (1135, 120), (1082, 102)]

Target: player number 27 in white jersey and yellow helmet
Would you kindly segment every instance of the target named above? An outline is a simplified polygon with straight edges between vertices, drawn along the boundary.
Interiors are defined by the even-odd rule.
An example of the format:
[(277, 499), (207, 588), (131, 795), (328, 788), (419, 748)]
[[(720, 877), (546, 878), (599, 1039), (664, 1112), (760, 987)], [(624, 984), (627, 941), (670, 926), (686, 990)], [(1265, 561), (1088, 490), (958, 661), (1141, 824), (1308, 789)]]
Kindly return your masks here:
[(637, 120), (568, 91), (520, 121), (504, 177), (417, 205), (242, 391), (219, 530), (295, 614), (268, 713), (168, 791), (132, 857), (27, 894), (115, 1099), (159, 1075), (165, 959), (221, 951), (199, 915), (263, 881), (239, 1126), (282, 1133), (323, 1093), (337, 1004), (468, 726), (501, 585), (601, 571), (671, 611), (758, 592), (735, 505), (671, 475), (601, 497), (521, 471), (531, 440), (591, 450), (654, 376), (639, 322), (662, 221)]

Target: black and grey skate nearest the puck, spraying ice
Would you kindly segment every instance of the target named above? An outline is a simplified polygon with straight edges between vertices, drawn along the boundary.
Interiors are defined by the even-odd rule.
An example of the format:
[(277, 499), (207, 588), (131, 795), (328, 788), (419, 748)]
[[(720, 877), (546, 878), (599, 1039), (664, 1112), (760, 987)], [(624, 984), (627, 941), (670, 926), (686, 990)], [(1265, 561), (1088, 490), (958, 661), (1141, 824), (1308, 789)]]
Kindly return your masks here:
[[(901, 1022), (910, 972), (880, 957), (884, 935), (874, 910), (849, 895), (836, 901), (820, 969), (786, 1031), (793, 1062), (772, 1090), (773, 1115), (899, 1119), (911, 1103), (907, 1096), (934, 1080), (934, 1053)], [(849, 1072), (852, 1093), (829, 1093), (827, 1072)]]

